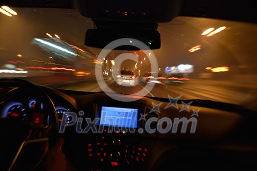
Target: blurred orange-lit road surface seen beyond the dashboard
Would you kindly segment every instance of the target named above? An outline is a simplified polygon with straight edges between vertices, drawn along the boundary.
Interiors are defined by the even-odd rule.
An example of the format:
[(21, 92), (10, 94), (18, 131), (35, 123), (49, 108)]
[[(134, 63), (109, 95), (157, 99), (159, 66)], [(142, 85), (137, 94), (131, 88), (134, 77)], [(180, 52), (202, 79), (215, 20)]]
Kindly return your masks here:
[[(89, 77), (69, 77), (69, 76), (41, 76), (23, 77), (37, 85), (45, 85), (52, 88), (68, 89), (76, 91), (102, 91), (97, 82)], [(145, 83), (139, 83), (134, 87), (118, 86), (114, 80), (106, 81), (107, 85), (118, 93), (134, 94), (141, 89), (150, 97), (168, 98), (170, 95), (180, 99), (203, 99), (217, 102), (236, 104), (256, 110), (257, 106), (257, 86), (245, 84), (240, 81), (215, 81), (191, 79), (182, 85), (155, 85), (149, 92), (144, 88)]]

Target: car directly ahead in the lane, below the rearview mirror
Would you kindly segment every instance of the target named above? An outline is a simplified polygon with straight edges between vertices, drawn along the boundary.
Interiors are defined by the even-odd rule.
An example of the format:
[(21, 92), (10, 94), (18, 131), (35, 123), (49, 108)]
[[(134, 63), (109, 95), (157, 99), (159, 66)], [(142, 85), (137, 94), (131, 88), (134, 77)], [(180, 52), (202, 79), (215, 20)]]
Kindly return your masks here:
[(120, 74), (117, 74), (116, 81), (117, 85), (123, 86), (135, 86), (138, 84), (137, 76), (131, 70), (121, 70)]

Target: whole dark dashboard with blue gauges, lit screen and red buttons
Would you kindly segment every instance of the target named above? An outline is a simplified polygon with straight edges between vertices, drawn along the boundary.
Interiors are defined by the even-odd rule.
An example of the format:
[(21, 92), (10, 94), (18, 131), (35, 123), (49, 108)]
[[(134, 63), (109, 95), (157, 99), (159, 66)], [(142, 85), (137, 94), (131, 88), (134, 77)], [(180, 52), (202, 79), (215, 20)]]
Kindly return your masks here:
[[(252, 136), (257, 130), (253, 129), (256, 116), (245, 109), (192, 101), (181, 111), (185, 108), (181, 101), (177, 107), (166, 108), (168, 99), (118, 102), (101, 92), (41, 88), (56, 108), (64, 152), (77, 170), (129, 171), (135, 166), (137, 170), (160, 170), (179, 168), (185, 161), (188, 167), (199, 167), (197, 160), (235, 166), (235, 154), (240, 164), (257, 161)], [(20, 89), (1, 92), (5, 94), (1, 117), (18, 118), (24, 124), (32, 120), (38, 127), (47, 127), (48, 114), (41, 99)], [(176, 118), (187, 119), (186, 127), (182, 120), (176, 125)]]

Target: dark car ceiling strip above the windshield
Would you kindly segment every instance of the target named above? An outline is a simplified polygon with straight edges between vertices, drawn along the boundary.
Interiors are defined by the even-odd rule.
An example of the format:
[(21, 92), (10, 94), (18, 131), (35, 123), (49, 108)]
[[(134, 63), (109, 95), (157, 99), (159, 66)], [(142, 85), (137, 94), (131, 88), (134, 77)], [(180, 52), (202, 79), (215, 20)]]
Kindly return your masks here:
[[(117, 19), (116, 14), (106, 16), (102, 12), (137, 10), (146, 11), (144, 18), (138, 17), (141, 21), (167, 22), (177, 16), (190, 16), (257, 22), (255, 0), (1, 0), (0, 4), (17, 7), (70, 8), (88, 18)], [(127, 18), (128, 16), (124, 16), (118, 19)], [(133, 20), (137, 18), (134, 17)]]

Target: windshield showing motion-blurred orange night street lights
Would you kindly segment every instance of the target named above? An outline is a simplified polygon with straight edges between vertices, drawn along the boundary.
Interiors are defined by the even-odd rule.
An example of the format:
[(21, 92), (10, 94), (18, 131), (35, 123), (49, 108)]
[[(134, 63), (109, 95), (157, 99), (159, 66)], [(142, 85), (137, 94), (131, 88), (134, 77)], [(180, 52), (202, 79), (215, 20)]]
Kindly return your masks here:
[[(257, 110), (257, 24), (177, 17), (158, 23), (161, 48), (153, 54), (112, 50), (99, 61), (102, 49), (84, 45), (86, 30), (94, 28), (91, 19), (70, 9), (12, 9), (18, 15), (0, 13), (0, 78), (100, 92), (95, 64), (102, 64), (103, 77), (111, 89), (133, 94), (150, 82), (147, 55), (155, 55), (159, 68), (154, 83), (161, 84), (147, 96), (182, 95), (181, 99), (212, 100)], [(114, 59), (125, 52), (135, 54), (138, 62), (127, 60), (118, 68)], [(139, 84), (117, 86), (113, 78), (117, 74), (135, 75)]]

